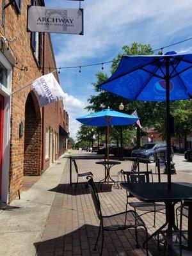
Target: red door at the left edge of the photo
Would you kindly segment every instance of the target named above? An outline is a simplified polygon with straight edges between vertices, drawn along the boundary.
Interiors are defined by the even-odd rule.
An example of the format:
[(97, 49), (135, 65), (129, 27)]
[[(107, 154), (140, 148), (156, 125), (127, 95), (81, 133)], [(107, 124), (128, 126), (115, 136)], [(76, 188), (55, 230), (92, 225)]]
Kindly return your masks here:
[(1, 182), (2, 182), (2, 161), (3, 161), (3, 113), (4, 113), (4, 97), (0, 95), (0, 199), (1, 199)]

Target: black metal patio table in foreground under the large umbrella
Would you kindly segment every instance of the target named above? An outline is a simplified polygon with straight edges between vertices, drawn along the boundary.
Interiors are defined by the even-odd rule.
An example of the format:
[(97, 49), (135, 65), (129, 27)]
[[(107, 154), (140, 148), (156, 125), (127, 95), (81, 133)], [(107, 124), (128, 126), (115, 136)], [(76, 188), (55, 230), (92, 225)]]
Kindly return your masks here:
[[(166, 211), (165, 223), (156, 230), (152, 235), (148, 237), (150, 240), (156, 236), (163, 228), (167, 226), (167, 234), (172, 235), (172, 230), (177, 230), (175, 225), (175, 211), (174, 206), (182, 199), (192, 199), (192, 184), (187, 182), (172, 183), (172, 189), (167, 189), (167, 182), (153, 182), (153, 183), (121, 183), (120, 186), (126, 189), (144, 202), (164, 202)], [(189, 230), (192, 229), (192, 220), (189, 220)], [(192, 243), (192, 235), (189, 237), (190, 243)], [(143, 243), (143, 245), (146, 242)]]

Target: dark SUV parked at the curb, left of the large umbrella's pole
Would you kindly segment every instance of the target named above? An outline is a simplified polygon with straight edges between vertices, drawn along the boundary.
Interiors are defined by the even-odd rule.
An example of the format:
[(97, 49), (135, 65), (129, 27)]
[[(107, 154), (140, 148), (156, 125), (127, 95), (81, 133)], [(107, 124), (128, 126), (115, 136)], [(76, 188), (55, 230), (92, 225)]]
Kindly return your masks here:
[[(140, 157), (148, 160), (150, 163), (156, 161), (156, 152), (164, 152), (166, 157), (166, 144), (165, 143), (148, 143), (140, 148), (132, 150), (131, 157)], [(173, 148), (171, 157), (173, 159)]]

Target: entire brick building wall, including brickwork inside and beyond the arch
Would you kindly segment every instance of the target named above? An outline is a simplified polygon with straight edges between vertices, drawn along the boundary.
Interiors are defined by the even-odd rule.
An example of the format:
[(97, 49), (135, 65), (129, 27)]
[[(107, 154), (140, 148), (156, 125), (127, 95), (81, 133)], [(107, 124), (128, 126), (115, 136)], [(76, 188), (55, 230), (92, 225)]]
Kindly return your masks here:
[[(41, 1), (43, 3), (43, 1)], [(8, 3), (8, 0), (6, 0)], [(0, 34), (4, 35), (6, 38), (12, 39), (14, 36), (17, 37), (16, 43), (10, 43), (9, 52), (12, 54), (13, 59), (17, 59), (17, 67), (13, 67), (12, 72), (12, 92), (23, 88), (24, 86), (30, 84), (36, 78), (42, 76), (42, 70), (38, 67), (38, 62), (33, 54), (33, 50), (31, 49), (31, 33), (26, 31), (27, 28), (27, 8), (28, 5), (31, 4), (31, 0), (22, 0), (22, 9), (21, 13), (18, 14), (15, 10), (13, 4), (8, 6), (5, 10), (5, 26), (4, 28), (0, 26)], [(2, 8), (2, 1), (0, 0), (0, 8)], [(2, 9), (0, 10), (0, 12)], [(0, 15), (0, 23), (1, 23)], [(49, 35), (45, 35), (46, 47), (45, 47), (45, 73), (52, 72), (54, 70), (53, 67), (56, 67), (54, 61), (54, 53), (52, 51), (51, 38)], [(4, 45), (4, 49), (6, 49), (8, 45)], [(25, 70), (24, 67), (28, 67)], [(49, 68), (51, 67), (51, 68)], [(28, 69), (28, 70), (27, 70)], [(54, 73), (57, 77), (57, 74)], [(57, 77), (58, 78), (58, 77)], [(23, 175), (24, 172), (26, 174), (40, 174), (41, 169), (41, 140), (42, 136), (45, 138), (45, 133), (42, 135), (42, 108), (40, 109), (36, 106), (36, 99), (33, 96), (33, 102), (35, 103), (35, 113), (38, 112), (38, 122), (36, 125), (36, 131), (32, 135), (33, 132), (29, 131), (29, 125), (32, 124), (32, 120), (35, 116), (33, 113), (29, 113), (30, 118), (25, 120), (25, 110), (28, 112), (29, 109), (25, 109), (26, 100), (28, 98), (29, 93), (31, 92), (31, 86), (24, 88), (23, 90), (14, 93), (12, 95), (12, 113), (11, 113), (11, 138), (10, 138), (10, 200), (13, 200), (17, 195), (17, 190), (22, 189)], [(32, 102), (31, 102), (32, 104)], [(58, 109), (62, 107), (63, 102), (57, 104), (51, 104), (50, 106), (45, 107), (45, 125), (50, 125), (52, 129), (58, 132), (58, 124), (59, 124), (59, 116)], [(26, 112), (26, 113), (27, 113)], [(19, 124), (23, 122), (23, 124), (27, 124), (24, 127), (24, 136), (19, 137)], [(45, 127), (44, 125), (44, 127)], [(33, 126), (33, 125), (32, 125)], [(34, 129), (34, 127), (33, 127)], [(45, 131), (45, 129), (43, 130)], [(31, 134), (31, 138), (35, 141), (34, 148), (27, 148), (29, 134)], [(31, 133), (30, 133), (31, 132)], [(26, 142), (25, 142), (26, 141)], [(45, 141), (45, 140), (44, 140)], [(38, 146), (37, 146), (38, 145)], [(37, 152), (35, 150), (37, 149)], [(45, 143), (43, 145), (43, 150), (45, 148)], [(34, 151), (35, 150), (35, 151)], [(33, 156), (31, 156), (31, 163), (29, 164), (29, 155), (34, 154), (36, 157), (36, 163), (32, 163), (34, 161)], [(37, 159), (38, 158), (38, 159)], [(24, 163), (26, 161), (26, 163)], [(49, 166), (49, 163), (47, 164)], [(47, 168), (45, 166), (44, 170)], [(33, 171), (32, 171), (33, 169)]]

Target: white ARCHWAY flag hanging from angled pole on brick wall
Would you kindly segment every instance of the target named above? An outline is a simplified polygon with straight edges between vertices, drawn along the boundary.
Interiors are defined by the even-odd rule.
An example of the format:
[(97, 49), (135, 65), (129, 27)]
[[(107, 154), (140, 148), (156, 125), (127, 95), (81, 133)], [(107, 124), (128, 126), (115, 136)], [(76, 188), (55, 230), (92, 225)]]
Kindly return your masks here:
[(35, 92), (40, 107), (63, 100), (65, 97), (60, 84), (52, 73), (36, 79), (33, 82), (33, 92)]

